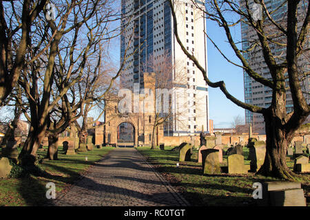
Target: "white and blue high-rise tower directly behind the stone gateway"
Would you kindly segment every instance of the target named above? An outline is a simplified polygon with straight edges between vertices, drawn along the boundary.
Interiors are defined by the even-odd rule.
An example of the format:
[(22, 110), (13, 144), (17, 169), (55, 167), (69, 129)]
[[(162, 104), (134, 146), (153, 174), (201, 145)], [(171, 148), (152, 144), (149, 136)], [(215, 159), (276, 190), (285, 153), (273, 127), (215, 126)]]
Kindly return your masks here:
[[(203, 4), (201, 1), (197, 1)], [(187, 50), (207, 69), (206, 25), (203, 12), (192, 1), (174, 1), (178, 34)], [(126, 58), (121, 87), (143, 89), (146, 72), (155, 72), (156, 86), (167, 78), (169, 108), (173, 112), (164, 124), (169, 136), (198, 135), (209, 131), (209, 94), (203, 74), (185, 56), (174, 36), (172, 13), (165, 0), (122, 0), (121, 61)], [(151, 63), (167, 63), (169, 75), (163, 77)], [(165, 69), (169, 69), (168, 67)], [(158, 88), (158, 87), (156, 87)]]

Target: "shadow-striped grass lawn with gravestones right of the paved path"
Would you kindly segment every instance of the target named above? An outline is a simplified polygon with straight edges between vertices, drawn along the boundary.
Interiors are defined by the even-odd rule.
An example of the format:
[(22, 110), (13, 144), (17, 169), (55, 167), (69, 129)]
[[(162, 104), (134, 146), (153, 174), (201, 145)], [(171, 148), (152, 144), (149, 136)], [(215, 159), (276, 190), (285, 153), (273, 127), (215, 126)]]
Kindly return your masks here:
[[(252, 188), (255, 182), (277, 181), (279, 179), (263, 177), (260, 175), (203, 175), (202, 166), (198, 164), (198, 151), (194, 150), (192, 162), (179, 162), (177, 168), (178, 152), (151, 150), (149, 147), (138, 147), (138, 151), (147, 157), (148, 161), (161, 173), (172, 186), (192, 204), (192, 206), (256, 206), (252, 198)], [(248, 148), (244, 149), (244, 156), (249, 154)], [(249, 161), (245, 160), (245, 164)], [(227, 166), (227, 156), (223, 156), (223, 164)], [(288, 162), (293, 168), (293, 162)], [(307, 196), (307, 205), (310, 205), (310, 175), (302, 175), (302, 188)]]

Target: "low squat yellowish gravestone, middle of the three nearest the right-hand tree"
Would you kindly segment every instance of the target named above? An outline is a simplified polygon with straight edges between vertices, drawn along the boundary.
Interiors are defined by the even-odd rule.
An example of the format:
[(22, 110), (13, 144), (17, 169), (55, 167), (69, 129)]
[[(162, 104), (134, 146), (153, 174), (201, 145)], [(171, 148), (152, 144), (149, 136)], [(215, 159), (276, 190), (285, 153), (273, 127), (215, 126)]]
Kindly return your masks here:
[(240, 154), (229, 155), (227, 158), (228, 173), (242, 174), (247, 173), (250, 169), (249, 165), (245, 165), (245, 159)]

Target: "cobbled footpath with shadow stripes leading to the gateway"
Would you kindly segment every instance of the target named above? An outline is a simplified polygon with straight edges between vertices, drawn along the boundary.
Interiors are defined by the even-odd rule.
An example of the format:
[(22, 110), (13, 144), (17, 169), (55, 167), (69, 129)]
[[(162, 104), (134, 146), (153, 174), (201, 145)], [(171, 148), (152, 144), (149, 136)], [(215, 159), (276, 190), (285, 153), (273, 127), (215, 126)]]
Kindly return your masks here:
[(189, 206), (135, 148), (115, 148), (56, 206)]

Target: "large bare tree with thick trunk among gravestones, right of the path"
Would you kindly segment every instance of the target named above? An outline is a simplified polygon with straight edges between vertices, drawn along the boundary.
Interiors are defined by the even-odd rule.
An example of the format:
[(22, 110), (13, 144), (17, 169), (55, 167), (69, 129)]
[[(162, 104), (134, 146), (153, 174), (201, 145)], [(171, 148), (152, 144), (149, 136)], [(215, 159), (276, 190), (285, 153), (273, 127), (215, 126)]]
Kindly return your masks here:
[[(245, 0), (242, 2), (243, 3), (239, 4), (235, 1), (213, 0), (208, 1), (206, 5), (200, 5), (196, 1), (192, 1), (192, 5), (195, 5), (195, 8), (198, 10), (201, 10), (207, 19), (215, 21), (223, 28), (229, 45), (234, 50), (236, 57), (240, 60), (242, 65), (238, 65), (229, 60), (229, 58), (225, 56), (225, 52), (222, 52), (218, 45), (207, 35), (211, 43), (218, 49), (218, 52), (220, 52), (229, 63), (242, 68), (252, 80), (271, 89), (272, 101), (268, 108), (242, 102), (227, 91), (223, 81), (214, 83), (209, 80), (206, 70), (198, 63), (194, 54), (189, 53), (185, 49), (178, 36), (175, 10), (178, 8), (180, 2), (172, 3), (172, 0), (169, 0), (170, 7), (172, 8), (174, 34), (183, 52), (202, 72), (207, 85), (213, 88), (219, 88), (231, 102), (234, 102), (239, 107), (254, 113), (261, 113), (264, 116), (267, 151), (265, 162), (260, 170), (258, 170), (258, 173), (285, 179), (296, 179), (297, 175), (287, 167), (285, 154), (289, 143), (293, 140), (295, 131), (302, 122), (307, 119), (310, 110), (309, 104), (307, 104), (304, 94), (302, 93), (299, 81), (300, 72), (298, 71), (298, 63), (300, 61), (298, 58), (300, 58), (302, 54), (309, 57), (309, 47), (307, 47), (306, 42), (309, 35), (310, 5), (308, 2), (304, 7), (299, 7), (302, 1), (288, 0), (282, 1), (282, 4), (280, 4), (278, 8), (269, 10), (267, 9), (265, 1), (255, 1), (262, 7), (262, 13), (260, 14), (261, 19), (255, 21), (249, 6), (250, 1)], [(273, 14), (278, 10), (285, 10), (287, 14), (277, 20), (273, 17)], [(240, 19), (238, 19), (238, 21), (232, 21), (232, 19), (229, 21), (226, 12), (236, 14)], [(258, 40), (253, 43), (253, 46), (250, 47), (249, 50), (253, 50), (253, 48), (260, 50), (271, 74), (271, 78), (265, 78), (251, 66), (243, 54), (247, 53), (249, 50), (242, 51), (238, 48), (237, 44), (239, 42), (234, 40), (230, 29), (234, 27), (234, 25), (238, 25), (238, 23), (247, 24), (249, 28), (252, 28), (256, 33)], [(273, 31), (270, 32), (270, 30)], [(279, 33), (281, 37), (275, 33)], [(285, 51), (285, 55), (279, 56), (275, 54), (272, 48), (276, 46), (280, 47), (282, 51)], [(293, 109), (289, 113), (287, 113), (286, 108), (286, 80), (288, 81), (293, 100)]]

